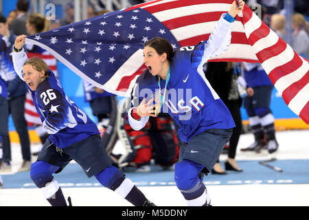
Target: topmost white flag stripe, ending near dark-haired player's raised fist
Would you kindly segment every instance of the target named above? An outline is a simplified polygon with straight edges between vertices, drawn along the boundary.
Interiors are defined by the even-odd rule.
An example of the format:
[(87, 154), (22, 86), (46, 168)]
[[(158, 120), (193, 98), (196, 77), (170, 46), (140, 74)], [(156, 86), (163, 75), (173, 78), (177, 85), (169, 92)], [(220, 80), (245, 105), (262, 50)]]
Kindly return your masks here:
[(231, 4), (225, 3), (206, 3), (199, 5), (186, 5), (179, 8), (172, 8), (161, 12), (153, 13), (159, 21), (168, 21), (170, 19), (177, 19), (194, 14), (201, 14), (206, 12), (227, 12)]

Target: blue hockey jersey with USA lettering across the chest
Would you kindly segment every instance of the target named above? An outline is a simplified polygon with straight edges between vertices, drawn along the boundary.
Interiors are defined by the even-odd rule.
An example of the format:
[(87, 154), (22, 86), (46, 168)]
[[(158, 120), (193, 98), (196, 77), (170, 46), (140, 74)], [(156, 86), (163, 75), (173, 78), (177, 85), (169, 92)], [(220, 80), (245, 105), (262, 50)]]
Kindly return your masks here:
[[(232, 23), (222, 19), (223, 16), (208, 41), (176, 50), (170, 63), (170, 80), (161, 111), (169, 113), (179, 124), (179, 138), (183, 142), (189, 142), (194, 135), (207, 129), (231, 129), (235, 126), (231, 113), (203, 72), (203, 64), (209, 58), (222, 54), (231, 42)], [(158, 81), (158, 76), (152, 76), (148, 70), (137, 78), (132, 93), (133, 108), (144, 97), (148, 96), (150, 100), (159, 92)], [(160, 80), (160, 87), (165, 88), (165, 83), (166, 80)], [(133, 108), (128, 112), (128, 122), (133, 129), (139, 130), (149, 116), (135, 120), (131, 115)]]

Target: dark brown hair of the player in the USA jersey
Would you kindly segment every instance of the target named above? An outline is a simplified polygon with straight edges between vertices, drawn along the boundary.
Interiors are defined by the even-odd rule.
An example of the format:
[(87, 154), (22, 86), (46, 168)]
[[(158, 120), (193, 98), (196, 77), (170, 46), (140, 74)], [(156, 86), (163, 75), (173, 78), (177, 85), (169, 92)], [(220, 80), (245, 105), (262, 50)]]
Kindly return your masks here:
[(174, 49), (168, 40), (161, 37), (155, 37), (150, 39), (144, 44), (144, 47), (152, 47), (156, 50), (157, 54), (162, 55), (163, 53), (167, 54), (168, 61), (172, 62), (174, 56)]

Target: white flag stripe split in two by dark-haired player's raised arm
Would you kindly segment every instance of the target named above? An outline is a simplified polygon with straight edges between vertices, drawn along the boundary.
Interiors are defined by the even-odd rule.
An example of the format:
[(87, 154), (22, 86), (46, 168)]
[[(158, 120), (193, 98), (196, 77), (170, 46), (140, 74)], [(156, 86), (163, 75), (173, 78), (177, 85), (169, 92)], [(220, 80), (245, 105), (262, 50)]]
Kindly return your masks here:
[[(218, 21), (196, 23), (194, 25), (187, 25), (181, 28), (175, 28), (174, 30), (170, 30), (170, 32), (172, 32), (177, 41), (183, 41), (185, 39), (190, 39), (194, 36), (210, 34), (212, 30), (214, 30), (216, 23), (218, 23)], [(236, 21), (233, 24), (233, 32), (244, 32), (244, 26), (240, 21)]]

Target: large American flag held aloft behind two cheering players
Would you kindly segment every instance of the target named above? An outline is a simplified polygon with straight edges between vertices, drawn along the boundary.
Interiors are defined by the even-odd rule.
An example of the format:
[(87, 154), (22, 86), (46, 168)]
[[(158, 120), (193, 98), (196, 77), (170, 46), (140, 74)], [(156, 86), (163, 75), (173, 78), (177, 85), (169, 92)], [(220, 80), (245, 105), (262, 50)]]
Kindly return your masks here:
[[(161, 36), (168, 39), (174, 48), (195, 45), (208, 39), (220, 15), (229, 10), (232, 2), (149, 1), (28, 36), (26, 41), (43, 47), (96, 87), (128, 96), (135, 79), (146, 69), (142, 55), (146, 41)], [(275, 43), (267, 43), (268, 39)], [(282, 92), (286, 104), (309, 123), (308, 61), (297, 54), (290, 61), (285, 56), (284, 48), (290, 46), (246, 5), (236, 17), (229, 50), (211, 61), (262, 63), (277, 90)], [(281, 62), (278, 62), (279, 59)], [(300, 63), (304, 65), (300, 67)], [(293, 74), (298, 67), (305, 71), (302, 76)], [(302, 84), (298, 83), (299, 77), (303, 79)]]

